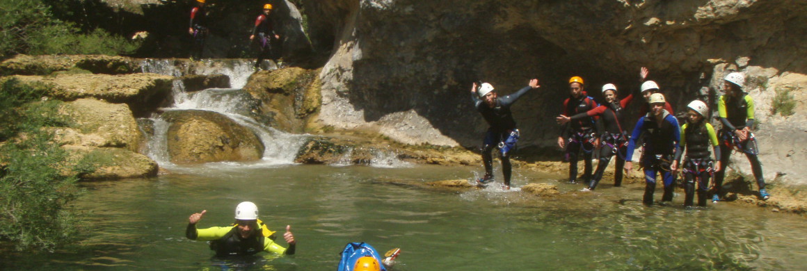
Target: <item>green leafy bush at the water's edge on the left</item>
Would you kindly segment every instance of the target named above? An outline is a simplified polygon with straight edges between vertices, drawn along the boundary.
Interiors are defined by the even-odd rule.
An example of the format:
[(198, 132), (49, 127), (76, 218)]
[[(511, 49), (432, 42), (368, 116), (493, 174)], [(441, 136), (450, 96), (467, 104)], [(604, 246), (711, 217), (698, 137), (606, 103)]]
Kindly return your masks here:
[(14, 79), (0, 89), (0, 240), (18, 250), (52, 249), (76, 238), (67, 210), (80, 190), (77, 176), (92, 171), (72, 163), (45, 127), (65, 126), (58, 101)]

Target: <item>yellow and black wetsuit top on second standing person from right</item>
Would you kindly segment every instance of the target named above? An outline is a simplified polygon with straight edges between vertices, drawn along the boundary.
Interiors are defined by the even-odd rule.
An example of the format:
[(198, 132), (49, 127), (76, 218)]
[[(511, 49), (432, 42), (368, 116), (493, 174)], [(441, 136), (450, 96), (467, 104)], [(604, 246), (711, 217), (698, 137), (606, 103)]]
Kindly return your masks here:
[[(717, 133), (711, 123), (701, 120), (700, 123), (684, 123), (681, 126), (681, 149), (686, 148), (688, 159), (709, 157), (709, 146), (712, 146), (716, 159), (720, 159), (720, 145)], [(681, 152), (675, 153), (675, 160), (680, 161)]]

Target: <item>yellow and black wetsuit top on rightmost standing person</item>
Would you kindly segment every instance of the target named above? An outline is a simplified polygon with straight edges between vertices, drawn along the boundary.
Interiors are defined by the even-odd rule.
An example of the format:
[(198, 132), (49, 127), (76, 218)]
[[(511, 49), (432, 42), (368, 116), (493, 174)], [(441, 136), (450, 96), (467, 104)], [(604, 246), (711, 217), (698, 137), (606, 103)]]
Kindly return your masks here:
[(717, 114), (720, 115), (723, 130), (734, 131), (753, 127), (754, 99), (747, 94), (742, 94), (741, 98), (723, 95), (717, 102)]

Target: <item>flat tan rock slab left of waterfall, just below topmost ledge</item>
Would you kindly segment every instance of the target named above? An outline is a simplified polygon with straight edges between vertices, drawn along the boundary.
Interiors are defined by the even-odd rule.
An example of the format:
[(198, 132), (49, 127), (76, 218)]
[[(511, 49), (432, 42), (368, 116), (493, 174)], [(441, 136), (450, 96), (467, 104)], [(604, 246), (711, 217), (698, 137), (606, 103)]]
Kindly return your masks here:
[(23, 82), (51, 85), (50, 95), (63, 101), (95, 98), (107, 102), (126, 103), (134, 115), (153, 109), (171, 92), (174, 77), (153, 73), (125, 75), (64, 74), (56, 76), (15, 76)]

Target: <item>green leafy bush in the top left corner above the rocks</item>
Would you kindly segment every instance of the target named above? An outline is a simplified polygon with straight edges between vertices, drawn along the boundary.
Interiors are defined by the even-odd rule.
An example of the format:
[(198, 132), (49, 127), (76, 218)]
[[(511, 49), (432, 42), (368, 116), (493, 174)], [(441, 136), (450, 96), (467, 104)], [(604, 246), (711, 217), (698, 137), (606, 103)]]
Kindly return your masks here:
[(104, 54), (135, 52), (139, 42), (101, 29), (82, 33), (74, 23), (53, 17), (42, 0), (0, 1), (0, 54)]

